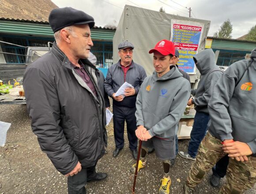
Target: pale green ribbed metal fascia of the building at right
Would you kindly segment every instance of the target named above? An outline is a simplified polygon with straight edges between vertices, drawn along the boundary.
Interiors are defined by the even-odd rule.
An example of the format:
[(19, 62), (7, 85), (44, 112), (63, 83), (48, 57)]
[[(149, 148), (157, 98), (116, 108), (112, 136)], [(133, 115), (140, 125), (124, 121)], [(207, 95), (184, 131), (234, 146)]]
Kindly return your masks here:
[(256, 48), (256, 41), (245, 41), (237, 39), (225, 39), (225, 38), (212, 38), (211, 48), (226, 49), (226, 50), (241, 50), (241, 51), (252, 51)]

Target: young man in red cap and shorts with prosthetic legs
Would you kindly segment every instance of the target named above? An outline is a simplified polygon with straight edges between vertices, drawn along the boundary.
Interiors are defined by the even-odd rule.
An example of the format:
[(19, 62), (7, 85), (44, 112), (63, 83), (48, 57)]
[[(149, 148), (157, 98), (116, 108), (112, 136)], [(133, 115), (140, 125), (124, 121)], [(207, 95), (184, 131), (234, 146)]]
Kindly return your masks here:
[[(175, 135), (178, 123), (190, 96), (190, 83), (173, 63), (175, 48), (171, 41), (159, 41), (154, 49), (153, 75), (145, 78), (136, 101), (136, 136), (142, 140), (138, 171), (146, 166), (148, 148), (154, 146), (156, 156), (162, 160), (164, 176), (160, 194), (169, 194), (170, 160), (176, 157)], [(135, 172), (136, 164), (131, 168)]]

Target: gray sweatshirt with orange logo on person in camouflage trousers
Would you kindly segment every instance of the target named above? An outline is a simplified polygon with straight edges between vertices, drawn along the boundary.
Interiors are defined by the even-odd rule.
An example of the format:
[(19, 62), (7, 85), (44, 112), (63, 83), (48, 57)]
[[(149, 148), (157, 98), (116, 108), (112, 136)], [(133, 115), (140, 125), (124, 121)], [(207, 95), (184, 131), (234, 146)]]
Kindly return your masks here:
[[(251, 60), (252, 65), (245, 72)], [(233, 63), (217, 82), (208, 105), (208, 130), (220, 140), (247, 143), (256, 156), (256, 48), (251, 60)]]

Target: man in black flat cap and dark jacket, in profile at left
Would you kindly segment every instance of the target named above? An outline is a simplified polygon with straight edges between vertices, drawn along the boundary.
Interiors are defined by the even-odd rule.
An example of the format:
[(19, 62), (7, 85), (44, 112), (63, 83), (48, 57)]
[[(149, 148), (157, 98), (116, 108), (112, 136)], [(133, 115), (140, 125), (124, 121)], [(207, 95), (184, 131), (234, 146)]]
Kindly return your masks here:
[(95, 172), (107, 136), (99, 72), (87, 60), (94, 19), (64, 7), (51, 11), (49, 24), (56, 42), (24, 75), (31, 127), (42, 151), (68, 177), (68, 193), (85, 194), (87, 182), (107, 176)]

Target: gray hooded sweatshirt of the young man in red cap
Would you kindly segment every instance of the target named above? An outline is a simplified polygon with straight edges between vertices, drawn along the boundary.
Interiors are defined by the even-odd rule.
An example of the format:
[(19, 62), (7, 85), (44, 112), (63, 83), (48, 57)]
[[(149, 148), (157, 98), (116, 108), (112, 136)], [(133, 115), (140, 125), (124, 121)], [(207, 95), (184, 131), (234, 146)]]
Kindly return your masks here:
[(161, 138), (177, 134), (178, 123), (190, 96), (190, 83), (178, 68), (170, 67), (161, 78), (154, 71), (145, 78), (136, 101), (137, 125), (143, 125), (151, 134)]

